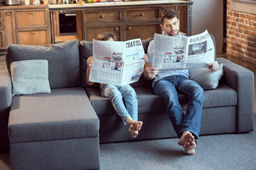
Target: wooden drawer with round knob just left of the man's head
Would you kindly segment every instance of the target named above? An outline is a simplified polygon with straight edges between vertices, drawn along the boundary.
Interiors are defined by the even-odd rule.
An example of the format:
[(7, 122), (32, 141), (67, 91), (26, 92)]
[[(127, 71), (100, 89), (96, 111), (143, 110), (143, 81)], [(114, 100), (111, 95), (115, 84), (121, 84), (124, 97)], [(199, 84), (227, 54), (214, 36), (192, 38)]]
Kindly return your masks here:
[(138, 11), (125, 11), (125, 18), (127, 20), (141, 20), (159, 18), (159, 11), (155, 10), (138, 10)]

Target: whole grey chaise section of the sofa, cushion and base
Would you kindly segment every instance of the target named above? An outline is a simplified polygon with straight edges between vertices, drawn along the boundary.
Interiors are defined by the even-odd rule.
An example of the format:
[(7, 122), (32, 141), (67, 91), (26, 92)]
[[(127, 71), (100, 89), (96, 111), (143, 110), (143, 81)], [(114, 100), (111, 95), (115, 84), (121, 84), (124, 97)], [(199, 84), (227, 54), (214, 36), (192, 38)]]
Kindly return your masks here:
[(82, 87), (14, 96), (11, 169), (100, 169), (99, 128)]

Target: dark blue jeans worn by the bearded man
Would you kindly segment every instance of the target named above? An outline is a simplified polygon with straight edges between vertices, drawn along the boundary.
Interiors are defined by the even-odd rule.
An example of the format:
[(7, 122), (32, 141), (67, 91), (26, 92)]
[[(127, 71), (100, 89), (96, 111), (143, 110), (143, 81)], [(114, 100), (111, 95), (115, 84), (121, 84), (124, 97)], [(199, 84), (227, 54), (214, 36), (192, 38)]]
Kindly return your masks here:
[[(197, 139), (203, 107), (203, 89), (201, 86), (196, 81), (177, 75), (156, 81), (153, 89), (154, 93), (163, 99), (178, 137), (181, 137), (182, 132), (190, 131)], [(178, 93), (188, 96), (188, 107), (185, 115), (180, 103), (178, 103)]]

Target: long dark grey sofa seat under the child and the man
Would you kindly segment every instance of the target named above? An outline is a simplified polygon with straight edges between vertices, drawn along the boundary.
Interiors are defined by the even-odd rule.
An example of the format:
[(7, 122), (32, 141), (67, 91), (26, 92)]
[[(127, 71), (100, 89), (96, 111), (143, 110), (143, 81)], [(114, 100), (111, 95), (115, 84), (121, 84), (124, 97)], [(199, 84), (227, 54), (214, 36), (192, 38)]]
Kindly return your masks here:
[[(97, 115), (116, 114), (109, 98), (100, 96), (99, 89), (85, 88), (85, 90)], [(166, 112), (164, 101), (161, 100), (160, 96), (154, 94), (151, 87), (135, 87), (134, 90), (137, 93), (139, 113)], [(178, 94), (178, 101), (185, 111), (188, 98), (182, 94)], [(220, 84), (214, 90), (204, 91), (203, 108), (235, 106), (237, 103), (236, 92), (225, 84)]]

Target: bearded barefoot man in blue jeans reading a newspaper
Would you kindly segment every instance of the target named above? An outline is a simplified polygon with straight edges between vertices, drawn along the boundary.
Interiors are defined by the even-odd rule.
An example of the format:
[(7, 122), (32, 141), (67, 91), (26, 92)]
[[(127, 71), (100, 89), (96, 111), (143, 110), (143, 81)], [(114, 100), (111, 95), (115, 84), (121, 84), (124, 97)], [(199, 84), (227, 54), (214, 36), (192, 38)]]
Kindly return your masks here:
[[(185, 37), (179, 33), (179, 19), (176, 11), (171, 8), (163, 8), (159, 13), (160, 26), (164, 35)], [(203, 107), (203, 89), (196, 81), (189, 79), (188, 69), (161, 71), (152, 67), (154, 40), (149, 44), (148, 62), (145, 64), (144, 79), (153, 79), (154, 93), (163, 99), (166, 111), (169, 115), (174, 130), (179, 140), (178, 145), (183, 146), (186, 154), (196, 153), (196, 140), (199, 136), (201, 125), (201, 113)], [(208, 64), (209, 69), (217, 71), (218, 62)], [(188, 107), (183, 114), (178, 93), (188, 96)]]

